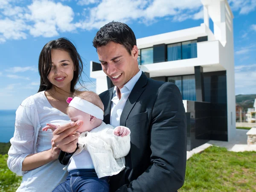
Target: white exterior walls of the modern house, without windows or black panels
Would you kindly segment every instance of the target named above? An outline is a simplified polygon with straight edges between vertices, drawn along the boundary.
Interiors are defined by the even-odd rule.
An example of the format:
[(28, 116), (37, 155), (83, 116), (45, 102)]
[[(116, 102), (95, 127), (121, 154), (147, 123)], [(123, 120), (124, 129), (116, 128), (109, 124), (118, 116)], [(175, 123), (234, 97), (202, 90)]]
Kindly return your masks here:
[[(194, 66), (203, 67), (203, 72), (226, 70), (227, 75), (227, 125), (228, 140), (236, 134), (236, 98), (233, 44), (233, 14), (227, 0), (201, 0), (204, 5), (204, 23), (201, 26), (168, 32), (137, 39), (139, 49), (157, 44), (172, 44), (207, 36), (208, 41), (197, 43), (197, 58), (140, 65), (150, 77), (194, 74)], [(209, 17), (214, 23), (214, 34), (209, 29)], [(96, 93), (107, 90), (103, 71), (90, 71), (96, 78)], [(184, 101), (183, 101), (184, 102)], [(184, 102), (185, 104), (186, 102)]]

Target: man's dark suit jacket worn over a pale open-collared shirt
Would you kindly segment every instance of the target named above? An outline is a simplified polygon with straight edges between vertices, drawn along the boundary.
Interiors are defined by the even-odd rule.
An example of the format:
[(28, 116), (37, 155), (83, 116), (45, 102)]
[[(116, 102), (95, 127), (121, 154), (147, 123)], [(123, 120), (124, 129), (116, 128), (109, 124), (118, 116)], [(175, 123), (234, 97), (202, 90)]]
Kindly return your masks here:
[[(100, 98), (110, 123), (113, 87)], [(186, 116), (178, 87), (143, 73), (128, 97), (120, 125), (131, 130), (125, 170), (110, 179), (111, 192), (174, 192), (186, 170)]]

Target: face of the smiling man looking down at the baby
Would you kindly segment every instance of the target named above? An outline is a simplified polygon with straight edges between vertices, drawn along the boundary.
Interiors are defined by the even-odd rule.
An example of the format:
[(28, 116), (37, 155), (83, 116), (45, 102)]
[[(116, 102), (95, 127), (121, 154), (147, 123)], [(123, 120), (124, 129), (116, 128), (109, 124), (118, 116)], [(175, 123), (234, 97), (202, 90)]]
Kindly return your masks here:
[(102, 70), (119, 89), (139, 72), (136, 45), (131, 50), (131, 55), (121, 44), (112, 41), (106, 46), (98, 47), (97, 52)]

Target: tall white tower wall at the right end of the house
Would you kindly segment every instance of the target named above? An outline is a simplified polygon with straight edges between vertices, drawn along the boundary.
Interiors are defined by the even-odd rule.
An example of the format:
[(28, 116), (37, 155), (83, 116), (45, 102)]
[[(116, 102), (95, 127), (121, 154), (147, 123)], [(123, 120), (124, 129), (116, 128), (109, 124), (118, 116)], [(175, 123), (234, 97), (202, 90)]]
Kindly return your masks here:
[[(204, 1), (204, 0), (202, 0)], [(234, 68), (233, 14), (227, 0), (216, 0), (208, 6), (209, 16), (214, 22), (214, 35), (219, 40), (219, 61), (227, 76), (227, 132), (228, 140), (236, 135), (236, 96)], [(216, 11), (219, 10), (219, 11)], [(218, 13), (218, 15), (216, 15)]]

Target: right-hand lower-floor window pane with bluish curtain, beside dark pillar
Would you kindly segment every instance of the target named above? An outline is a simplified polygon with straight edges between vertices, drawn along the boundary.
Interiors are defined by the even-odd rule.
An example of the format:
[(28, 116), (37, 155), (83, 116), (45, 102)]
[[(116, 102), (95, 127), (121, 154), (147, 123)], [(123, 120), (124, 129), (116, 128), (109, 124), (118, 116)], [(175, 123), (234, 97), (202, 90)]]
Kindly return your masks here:
[(182, 76), (182, 99), (196, 101), (195, 75)]

